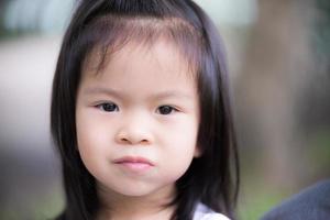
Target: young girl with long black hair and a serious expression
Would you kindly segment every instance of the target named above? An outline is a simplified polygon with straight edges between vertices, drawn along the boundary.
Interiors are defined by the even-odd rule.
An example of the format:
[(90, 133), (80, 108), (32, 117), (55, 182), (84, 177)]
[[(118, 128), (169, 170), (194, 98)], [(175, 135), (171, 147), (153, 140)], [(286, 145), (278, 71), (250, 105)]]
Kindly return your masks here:
[(233, 218), (227, 77), (217, 30), (193, 1), (80, 1), (53, 85), (58, 219)]

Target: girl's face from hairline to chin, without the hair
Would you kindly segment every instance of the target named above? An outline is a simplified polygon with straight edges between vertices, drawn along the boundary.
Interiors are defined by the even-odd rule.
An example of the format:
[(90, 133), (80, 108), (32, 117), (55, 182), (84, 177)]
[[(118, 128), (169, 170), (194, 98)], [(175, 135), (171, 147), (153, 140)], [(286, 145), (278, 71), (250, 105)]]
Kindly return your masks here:
[(78, 150), (99, 189), (147, 196), (172, 190), (199, 152), (197, 86), (175, 47), (128, 44), (79, 85)]

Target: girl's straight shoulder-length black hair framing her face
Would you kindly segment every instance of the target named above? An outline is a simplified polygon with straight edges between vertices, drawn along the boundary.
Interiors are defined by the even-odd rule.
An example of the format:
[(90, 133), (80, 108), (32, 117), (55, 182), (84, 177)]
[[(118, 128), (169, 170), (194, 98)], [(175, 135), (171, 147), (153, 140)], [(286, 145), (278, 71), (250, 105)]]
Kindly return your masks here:
[(84, 63), (96, 47), (105, 62), (130, 41), (152, 44), (160, 36), (175, 43), (195, 69), (200, 103), (197, 145), (202, 154), (176, 183), (172, 219), (191, 220), (198, 202), (234, 218), (239, 158), (217, 28), (190, 0), (81, 0), (64, 36), (53, 81), (51, 129), (66, 195), (58, 219), (91, 220), (99, 207), (96, 180), (77, 151), (75, 109)]

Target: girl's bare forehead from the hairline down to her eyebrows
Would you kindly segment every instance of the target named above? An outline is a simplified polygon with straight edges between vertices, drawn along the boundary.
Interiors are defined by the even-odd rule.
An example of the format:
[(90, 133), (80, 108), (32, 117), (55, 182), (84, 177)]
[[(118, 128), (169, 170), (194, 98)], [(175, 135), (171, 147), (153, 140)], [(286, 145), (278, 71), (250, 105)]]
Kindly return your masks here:
[(196, 94), (195, 75), (173, 43), (160, 40), (145, 46), (131, 42), (106, 57), (95, 50), (82, 69), (80, 88), (110, 87), (136, 95), (166, 90)]

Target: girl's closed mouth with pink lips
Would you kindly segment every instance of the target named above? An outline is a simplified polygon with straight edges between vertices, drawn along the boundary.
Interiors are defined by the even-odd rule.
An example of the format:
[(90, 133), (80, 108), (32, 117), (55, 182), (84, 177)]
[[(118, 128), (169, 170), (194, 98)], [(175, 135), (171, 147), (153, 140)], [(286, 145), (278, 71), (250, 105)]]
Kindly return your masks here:
[(124, 156), (113, 161), (113, 164), (119, 165), (130, 172), (144, 172), (154, 166), (154, 163), (144, 157)]

